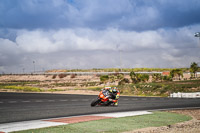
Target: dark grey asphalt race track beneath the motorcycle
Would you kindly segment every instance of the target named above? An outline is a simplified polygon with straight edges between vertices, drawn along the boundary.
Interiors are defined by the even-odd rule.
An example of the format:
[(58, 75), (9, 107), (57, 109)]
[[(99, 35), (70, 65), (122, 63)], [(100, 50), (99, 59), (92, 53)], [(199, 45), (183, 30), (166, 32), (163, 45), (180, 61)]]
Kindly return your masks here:
[(95, 95), (0, 93), (0, 123), (97, 113), (200, 107), (200, 99), (121, 96), (118, 107), (90, 107)]

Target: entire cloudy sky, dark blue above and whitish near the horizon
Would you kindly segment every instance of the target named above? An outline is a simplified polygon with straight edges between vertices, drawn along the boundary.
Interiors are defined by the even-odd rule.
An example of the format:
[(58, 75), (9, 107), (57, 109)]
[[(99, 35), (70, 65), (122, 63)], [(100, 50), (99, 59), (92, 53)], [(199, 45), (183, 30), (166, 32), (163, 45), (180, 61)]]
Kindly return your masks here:
[(0, 0), (0, 73), (189, 67), (199, 31), (199, 0)]

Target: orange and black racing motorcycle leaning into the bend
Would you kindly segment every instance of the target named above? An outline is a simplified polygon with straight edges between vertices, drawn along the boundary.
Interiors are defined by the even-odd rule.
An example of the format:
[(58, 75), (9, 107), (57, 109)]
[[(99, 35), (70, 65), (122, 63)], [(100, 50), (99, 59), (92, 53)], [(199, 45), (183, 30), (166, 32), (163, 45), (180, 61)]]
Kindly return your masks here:
[(91, 106), (114, 106), (114, 104), (118, 102), (118, 100), (110, 100), (110, 94), (108, 90), (102, 90), (98, 98), (93, 100)]

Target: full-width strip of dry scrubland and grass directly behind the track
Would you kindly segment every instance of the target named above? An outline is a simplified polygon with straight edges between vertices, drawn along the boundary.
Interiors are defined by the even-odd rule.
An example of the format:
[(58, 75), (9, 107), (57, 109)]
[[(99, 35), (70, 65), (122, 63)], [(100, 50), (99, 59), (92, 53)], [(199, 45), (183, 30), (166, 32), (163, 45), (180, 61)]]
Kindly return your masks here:
[[(105, 80), (105, 77), (108, 77)], [(199, 92), (200, 80), (148, 81), (133, 83), (130, 75), (1, 75), (0, 91), (98, 94), (104, 86), (117, 86), (124, 95), (169, 96), (173, 92)]]

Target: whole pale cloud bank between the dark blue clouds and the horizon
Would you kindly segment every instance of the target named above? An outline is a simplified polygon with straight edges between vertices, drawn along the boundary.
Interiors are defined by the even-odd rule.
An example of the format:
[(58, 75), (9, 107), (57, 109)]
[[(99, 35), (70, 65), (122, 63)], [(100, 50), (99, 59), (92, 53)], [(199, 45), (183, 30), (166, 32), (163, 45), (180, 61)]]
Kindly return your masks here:
[(188, 67), (199, 62), (199, 28), (19, 30), (16, 42), (0, 39), (1, 71), (32, 71), (33, 60), (37, 70), (120, 67), (119, 50), (123, 67)]

